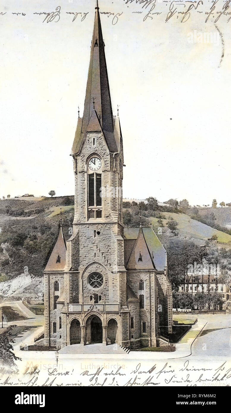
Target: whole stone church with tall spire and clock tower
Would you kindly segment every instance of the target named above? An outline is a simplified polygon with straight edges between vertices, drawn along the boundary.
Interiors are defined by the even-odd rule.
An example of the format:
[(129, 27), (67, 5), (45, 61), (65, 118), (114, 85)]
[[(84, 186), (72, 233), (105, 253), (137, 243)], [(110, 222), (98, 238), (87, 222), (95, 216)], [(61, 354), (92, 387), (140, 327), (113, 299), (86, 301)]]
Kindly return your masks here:
[(166, 344), (172, 332), (167, 252), (151, 227), (123, 225), (123, 140), (112, 113), (98, 1), (71, 155), (73, 233), (65, 240), (61, 218), (44, 269), (45, 346)]

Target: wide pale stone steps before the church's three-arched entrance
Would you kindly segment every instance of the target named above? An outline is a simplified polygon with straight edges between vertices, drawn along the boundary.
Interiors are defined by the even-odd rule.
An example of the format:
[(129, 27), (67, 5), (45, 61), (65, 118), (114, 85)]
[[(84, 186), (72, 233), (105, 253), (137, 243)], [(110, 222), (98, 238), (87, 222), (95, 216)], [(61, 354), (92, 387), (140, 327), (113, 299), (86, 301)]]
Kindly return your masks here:
[(123, 349), (118, 344), (72, 344), (59, 350), (60, 354), (124, 354), (127, 349)]

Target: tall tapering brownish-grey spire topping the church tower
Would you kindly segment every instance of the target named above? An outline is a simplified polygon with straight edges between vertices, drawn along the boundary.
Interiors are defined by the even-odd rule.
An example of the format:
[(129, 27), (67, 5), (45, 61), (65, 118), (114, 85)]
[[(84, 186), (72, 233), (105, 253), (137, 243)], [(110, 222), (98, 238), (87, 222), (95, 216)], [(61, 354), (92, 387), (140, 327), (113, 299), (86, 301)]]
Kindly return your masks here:
[(98, 0), (96, 0), (95, 6), (95, 22), (90, 49), (90, 64), (88, 69), (88, 81), (81, 128), (82, 133), (85, 133), (94, 109), (105, 135), (110, 135), (113, 133), (112, 103), (107, 76), (107, 65)]

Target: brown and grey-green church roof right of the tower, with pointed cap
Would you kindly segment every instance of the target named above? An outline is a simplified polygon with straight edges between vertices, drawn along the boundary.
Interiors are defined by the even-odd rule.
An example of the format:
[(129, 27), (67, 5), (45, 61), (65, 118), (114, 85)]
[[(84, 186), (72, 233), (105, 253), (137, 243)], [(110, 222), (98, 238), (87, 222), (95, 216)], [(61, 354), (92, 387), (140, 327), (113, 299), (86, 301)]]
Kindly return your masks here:
[[(150, 227), (124, 228), (124, 259), (127, 269), (164, 271), (166, 249)], [(138, 261), (141, 253), (142, 261)]]

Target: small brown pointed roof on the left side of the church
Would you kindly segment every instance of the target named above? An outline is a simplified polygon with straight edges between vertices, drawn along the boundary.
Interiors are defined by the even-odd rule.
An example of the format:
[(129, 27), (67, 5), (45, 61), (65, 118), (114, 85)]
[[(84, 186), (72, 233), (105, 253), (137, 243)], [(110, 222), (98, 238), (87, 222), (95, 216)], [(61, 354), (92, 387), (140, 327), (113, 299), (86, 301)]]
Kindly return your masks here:
[(52, 249), (52, 252), (50, 254), (48, 263), (45, 266), (44, 271), (63, 271), (66, 266), (66, 255), (67, 255), (67, 247), (66, 247), (64, 233), (62, 230), (62, 215), (61, 215), (59, 235), (57, 237), (55, 246)]

